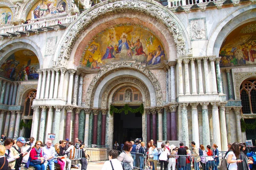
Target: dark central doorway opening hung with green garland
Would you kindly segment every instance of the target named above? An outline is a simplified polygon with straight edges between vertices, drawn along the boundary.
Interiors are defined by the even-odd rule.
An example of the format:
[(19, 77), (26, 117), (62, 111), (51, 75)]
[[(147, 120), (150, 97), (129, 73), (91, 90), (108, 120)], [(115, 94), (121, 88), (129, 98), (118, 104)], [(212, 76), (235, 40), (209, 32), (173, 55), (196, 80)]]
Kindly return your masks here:
[[(130, 106), (130, 108), (136, 109), (140, 106)], [(115, 108), (121, 109), (122, 106), (115, 106)], [(122, 142), (131, 141), (131, 139), (142, 139), (142, 114), (131, 113), (125, 114), (114, 113), (114, 135), (113, 139), (118, 142), (119, 146)]]

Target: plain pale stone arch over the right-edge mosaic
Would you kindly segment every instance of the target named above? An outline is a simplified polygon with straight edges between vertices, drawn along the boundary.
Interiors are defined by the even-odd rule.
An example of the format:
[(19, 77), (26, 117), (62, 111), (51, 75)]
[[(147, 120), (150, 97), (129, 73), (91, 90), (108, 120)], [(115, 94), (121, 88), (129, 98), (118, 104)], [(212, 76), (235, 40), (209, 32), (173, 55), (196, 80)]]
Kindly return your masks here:
[[(207, 56), (219, 55), (219, 51), (222, 42), (225, 40), (231, 31), (241, 26), (244, 23), (255, 20), (256, 18), (256, 4), (248, 4), (247, 6), (242, 6), (241, 8), (233, 11), (230, 15), (225, 17), (212, 32), (207, 45)], [(253, 12), (254, 11), (254, 12)]]

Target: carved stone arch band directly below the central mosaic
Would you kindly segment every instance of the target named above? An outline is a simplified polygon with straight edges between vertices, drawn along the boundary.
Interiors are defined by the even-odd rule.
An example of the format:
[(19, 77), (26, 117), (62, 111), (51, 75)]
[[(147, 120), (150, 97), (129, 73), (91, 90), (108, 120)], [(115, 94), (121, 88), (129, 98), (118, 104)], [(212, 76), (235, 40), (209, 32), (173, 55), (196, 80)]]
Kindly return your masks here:
[(91, 81), (88, 89), (87, 95), (85, 100), (86, 107), (93, 107), (93, 99), (96, 92), (96, 88), (98, 87), (99, 83), (109, 74), (113, 73), (114, 71), (118, 70), (125, 70), (125, 69), (132, 69), (144, 74), (148, 79), (152, 82), (154, 86), (155, 94), (156, 94), (156, 102), (157, 106), (162, 106), (162, 91), (160, 88), (160, 83), (158, 82), (157, 78), (154, 76), (151, 71), (149, 71), (145, 66), (134, 63), (134, 62), (116, 62), (106, 67), (103, 67), (101, 71), (93, 78)]

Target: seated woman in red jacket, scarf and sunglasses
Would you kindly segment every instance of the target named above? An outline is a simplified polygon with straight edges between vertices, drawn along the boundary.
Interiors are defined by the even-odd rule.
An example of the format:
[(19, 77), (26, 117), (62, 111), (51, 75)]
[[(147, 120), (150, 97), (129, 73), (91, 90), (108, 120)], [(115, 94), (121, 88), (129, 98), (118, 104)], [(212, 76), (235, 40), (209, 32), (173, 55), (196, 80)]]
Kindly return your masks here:
[(44, 157), (42, 156), (41, 141), (35, 142), (35, 146), (32, 147), (29, 157), (31, 159), (29, 166), (35, 167), (36, 170), (44, 170)]

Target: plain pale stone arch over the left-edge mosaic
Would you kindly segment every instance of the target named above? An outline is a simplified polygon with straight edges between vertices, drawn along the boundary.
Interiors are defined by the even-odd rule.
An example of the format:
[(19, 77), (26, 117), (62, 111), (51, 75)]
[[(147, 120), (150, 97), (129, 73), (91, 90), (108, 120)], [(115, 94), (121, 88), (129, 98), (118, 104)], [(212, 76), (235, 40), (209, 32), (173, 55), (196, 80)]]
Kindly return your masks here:
[[(38, 57), (40, 68), (43, 67), (43, 56), (41, 54), (41, 49), (36, 45), (35, 42), (29, 39), (19, 38), (15, 40), (8, 41), (4, 43), (0, 48), (0, 65), (3, 64), (4, 60), (9, 57), (12, 53), (22, 50), (22, 49), (28, 49), (35, 53), (35, 55)], [(2, 52), (3, 51), (3, 52)]]

